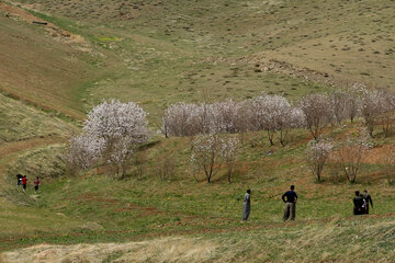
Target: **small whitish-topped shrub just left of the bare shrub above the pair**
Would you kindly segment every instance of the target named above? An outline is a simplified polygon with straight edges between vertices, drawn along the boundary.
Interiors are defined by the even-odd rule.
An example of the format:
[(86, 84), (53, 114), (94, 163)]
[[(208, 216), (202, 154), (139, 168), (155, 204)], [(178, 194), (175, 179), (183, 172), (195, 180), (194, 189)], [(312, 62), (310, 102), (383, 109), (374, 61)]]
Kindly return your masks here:
[(325, 140), (312, 140), (306, 149), (306, 161), (309, 170), (318, 182), (321, 181), (321, 174), (325, 162), (329, 158), (334, 144)]

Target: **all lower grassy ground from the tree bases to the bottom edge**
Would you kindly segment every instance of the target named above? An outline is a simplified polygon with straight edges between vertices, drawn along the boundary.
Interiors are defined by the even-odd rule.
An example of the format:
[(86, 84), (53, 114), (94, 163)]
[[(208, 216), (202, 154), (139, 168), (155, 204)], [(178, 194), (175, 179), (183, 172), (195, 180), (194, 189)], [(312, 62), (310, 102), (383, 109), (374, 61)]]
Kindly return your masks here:
[[(350, 133), (356, 126), (358, 124), (347, 124), (343, 128), (328, 129), (325, 136), (341, 138), (342, 134)], [(248, 134), (232, 184), (227, 183), (224, 169), (212, 184), (207, 184), (202, 174), (195, 181), (189, 165), (189, 138), (172, 138), (147, 148), (143, 173), (136, 168), (125, 180), (108, 178), (99, 169), (78, 178), (45, 178), (38, 194), (34, 193), (32, 186), (26, 194), (14, 186), (15, 190), (7, 193), (8, 198), (27, 204), (27, 211), (31, 213), (43, 209), (40, 215), (45, 215), (45, 219), (40, 222), (27, 219), (23, 231), (14, 230), (18, 221), (8, 221), (10, 230), (1, 233), (3, 242), (0, 249), (9, 251), (43, 242), (76, 244), (151, 240), (122, 245), (79, 245), (81, 251), (89, 251), (83, 255), (67, 252), (78, 250), (75, 247), (50, 245), (3, 255), (5, 259), (11, 256), (14, 259), (11, 262), (15, 262), (29, 261), (29, 256), (38, 256), (43, 251), (52, 256), (77, 256), (80, 260), (83, 256), (90, 259), (92, 253), (99, 254), (103, 262), (108, 258), (122, 259), (122, 255), (138, 262), (143, 258), (136, 256), (143, 256), (142, 253), (158, 253), (154, 249), (158, 242), (162, 242), (158, 237), (182, 236), (187, 243), (198, 242), (198, 247), (202, 242), (213, 244), (210, 253), (205, 250), (195, 252), (206, 262), (237, 262), (240, 259), (281, 262), (289, 256), (305, 262), (315, 262), (316, 256), (326, 262), (335, 259), (352, 262), (362, 259), (361, 254), (368, 254), (365, 247), (370, 251), (365, 262), (372, 259), (391, 261), (394, 247), (385, 245), (382, 240), (392, 237), (390, 229), (394, 214), (388, 204), (394, 202), (395, 195), (393, 186), (386, 181), (382, 160), (386, 155), (383, 145), (393, 142), (393, 138), (383, 138), (380, 134), (376, 136), (375, 147), (364, 160), (357, 183), (349, 184), (330, 162), (324, 170), (324, 182), (316, 183), (303, 156), (305, 141), (311, 136), (306, 130), (296, 130), (291, 137), (293, 140), (282, 148), (270, 147), (264, 134)], [(160, 169), (158, 160), (163, 155), (171, 155), (177, 167), (173, 175), (161, 182), (156, 172)], [(41, 159), (36, 161), (43, 162)], [(18, 167), (13, 162), (9, 164)], [(8, 184), (13, 184), (13, 181), (10, 174)], [(297, 220), (283, 224), (281, 194), (291, 183), (296, 185), (300, 195)], [(252, 190), (252, 214), (250, 221), (242, 224), (242, 195), (247, 187)], [(353, 191), (363, 188), (372, 194), (374, 208), (371, 216), (354, 217), (351, 204)], [(58, 216), (68, 218), (61, 228), (43, 227), (57, 221)], [(3, 220), (7, 221), (7, 217)], [(84, 224), (76, 226), (78, 221)], [(353, 242), (350, 242), (350, 238)], [(172, 248), (182, 251), (183, 247), (177, 240)], [(283, 251), (284, 243), (297, 248), (298, 252), (303, 251), (303, 259), (301, 253), (293, 250)], [(179, 256), (177, 259), (181, 262), (189, 259), (183, 252), (174, 253), (163, 256)]]

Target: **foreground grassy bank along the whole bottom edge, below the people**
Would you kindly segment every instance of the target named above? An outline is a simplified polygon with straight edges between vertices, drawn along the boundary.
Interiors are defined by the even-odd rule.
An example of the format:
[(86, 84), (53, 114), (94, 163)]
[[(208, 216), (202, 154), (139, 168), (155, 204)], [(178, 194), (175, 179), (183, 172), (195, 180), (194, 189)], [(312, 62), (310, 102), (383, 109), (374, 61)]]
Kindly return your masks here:
[(34, 262), (394, 262), (394, 222), (327, 224), (144, 242), (41, 244), (3, 253), (1, 263)]

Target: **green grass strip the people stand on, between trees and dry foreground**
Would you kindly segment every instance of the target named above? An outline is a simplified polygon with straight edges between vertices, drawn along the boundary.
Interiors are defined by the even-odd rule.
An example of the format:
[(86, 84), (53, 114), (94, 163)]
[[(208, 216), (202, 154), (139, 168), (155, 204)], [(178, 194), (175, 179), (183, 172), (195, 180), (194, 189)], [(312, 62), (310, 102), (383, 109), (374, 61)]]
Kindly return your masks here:
[[(300, 229), (297, 231), (305, 231), (301, 229), (305, 229), (304, 226), (308, 224), (316, 224), (318, 228), (328, 220), (352, 225), (357, 218), (352, 216), (351, 199), (358, 188), (369, 188), (374, 198), (373, 215), (392, 217), (393, 210), (388, 204), (395, 201), (393, 186), (388, 185), (382, 175), (375, 175), (374, 183), (371, 183), (371, 174), (381, 171), (381, 165), (362, 167), (357, 184), (332, 182), (328, 169), (324, 172), (324, 183), (316, 183), (304, 163), (302, 152), (305, 145), (300, 144), (301, 139), (308, 136), (307, 132), (293, 133), (295, 134), (291, 136), (297, 139), (284, 148), (269, 147), (264, 133), (247, 135), (240, 151), (242, 158), (237, 163), (232, 184), (226, 183), (224, 170), (218, 172), (212, 184), (205, 183), (202, 176), (200, 182), (194, 181), (188, 161), (188, 138), (167, 139), (147, 148), (148, 161), (140, 179), (136, 178), (133, 171), (129, 179), (121, 181), (95, 174), (95, 170), (78, 178), (58, 179), (52, 179), (50, 173), (45, 176), (44, 172), (38, 197), (31, 197), (27, 205), (32, 209), (50, 211), (48, 221), (55, 220), (53, 216), (60, 214), (71, 221), (82, 220), (91, 225), (83, 228), (66, 225), (61, 232), (37, 232), (38, 226), (33, 221), (26, 227), (22, 240), (10, 239), (0, 248), (9, 250), (11, 247), (41, 242), (113, 242), (172, 235), (203, 235), (206, 238), (217, 231), (237, 236), (235, 230), (250, 235), (250, 229), (261, 231), (261, 228), (271, 226), (285, 231), (282, 229), (281, 195), (291, 183), (296, 185), (300, 196), (297, 221), (293, 228)], [(382, 138), (376, 138), (377, 144), (381, 140)], [(170, 148), (173, 148), (173, 158), (178, 163), (176, 173), (169, 182), (160, 182), (156, 178), (156, 160), (163, 155), (163, 149)], [(267, 156), (268, 150), (273, 153)], [(52, 162), (52, 159), (43, 159), (41, 149), (37, 149), (35, 155), (35, 151), (31, 152), (30, 159), (26, 155), (20, 155), (19, 158), (26, 160), (25, 163), (43, 163), (43, 171), (50, 171), (46, 162)], [(53, 151), (48, 148), (47, 152)], [(15, 160), (9, 162), (11, 168), (18, 168), (19, 159)], [(10, 173), (8, 183), (13, 184), (13, 173)], [(250, 222), (242, 225), (242, 195), (247, 187), (252, 190), (252, 213)], [(30, 186), (26, 195), (34, 194)], [(8, 192), (9, 198), (10, 195), (16, 196), (14, 201), (23, 199), (25, 196), (24, 193), (18, 193), (18, 190)], [(375, 221), (374, 218), (368, 217), (368, 220), (372, 220), (373, 224), (380, 224), (382, 220)], [(208, 232), (208, 236), (205, 232)], [(289, 235), (300, 239), (293, 231)], [(0, 238), (7, 237), (8, 235), (2, 235)]]

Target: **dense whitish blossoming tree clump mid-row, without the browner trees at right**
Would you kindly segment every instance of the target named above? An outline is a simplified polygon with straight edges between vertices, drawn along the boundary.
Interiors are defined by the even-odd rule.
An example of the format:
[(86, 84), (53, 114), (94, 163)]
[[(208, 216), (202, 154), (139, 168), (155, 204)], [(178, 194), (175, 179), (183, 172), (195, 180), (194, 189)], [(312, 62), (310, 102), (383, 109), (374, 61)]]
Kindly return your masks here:
[(167, 137), (266, 130), (271, 145), (275, 134), (284, 145), (286, 132), (303, 127), (304, 116), (300, 107), (281, 95), (199, 105), (178, 103), (165, 111), (163, 130)]

